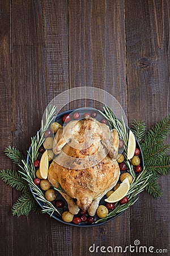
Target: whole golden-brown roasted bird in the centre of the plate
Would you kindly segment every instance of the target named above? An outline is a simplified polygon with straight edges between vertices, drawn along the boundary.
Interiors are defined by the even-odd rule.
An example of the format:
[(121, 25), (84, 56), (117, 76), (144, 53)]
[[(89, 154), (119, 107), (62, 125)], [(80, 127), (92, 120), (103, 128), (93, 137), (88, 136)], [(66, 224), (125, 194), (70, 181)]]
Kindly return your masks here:
[(94, 216), (100, 199), (117, 183), (120, 168), (118, 133), (93, 118), (71, 121), (60, 127), (53, 143), (57, 157), (50, 164), (48, 180), (60, 184), (71, 213), (79, 208)]

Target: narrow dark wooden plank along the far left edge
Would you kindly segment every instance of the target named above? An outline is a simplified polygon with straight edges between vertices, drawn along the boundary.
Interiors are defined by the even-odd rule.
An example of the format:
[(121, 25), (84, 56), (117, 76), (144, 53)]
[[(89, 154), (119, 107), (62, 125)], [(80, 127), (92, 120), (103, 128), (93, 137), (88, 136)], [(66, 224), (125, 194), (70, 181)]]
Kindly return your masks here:
[[(0, 155), (1, 170), (12, 167), (10, 159), (4, 155), (5, 147), (11, 144), (11, 55), (10, 55), (10, 1), (0, 1)], [(2, 255), (12, 251), (12, 190), (0, 180), (0, 246)]]

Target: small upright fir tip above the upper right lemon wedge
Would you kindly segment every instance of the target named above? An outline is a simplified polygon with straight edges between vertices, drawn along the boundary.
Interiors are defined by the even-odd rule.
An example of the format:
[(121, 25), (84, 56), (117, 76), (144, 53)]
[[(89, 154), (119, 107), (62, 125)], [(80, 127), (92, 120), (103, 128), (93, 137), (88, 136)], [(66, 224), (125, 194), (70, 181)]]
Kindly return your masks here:
[(133, 131), (135, 137), (139, 142), (145, 137), (146, 123), (144, 121), (136, 121), (131, 124), (131, 131)]

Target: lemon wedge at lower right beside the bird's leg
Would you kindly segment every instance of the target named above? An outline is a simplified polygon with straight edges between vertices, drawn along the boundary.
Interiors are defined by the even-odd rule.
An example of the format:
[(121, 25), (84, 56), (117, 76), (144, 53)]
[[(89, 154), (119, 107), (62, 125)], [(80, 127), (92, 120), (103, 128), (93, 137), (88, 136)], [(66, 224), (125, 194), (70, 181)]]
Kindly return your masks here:
[(124, 198), (130, 188), (130, 183), (128, 178), (126, 178), (121, 184), (120, 187), (114, 191), (111, 196), (109, 196), (107, 199), (105, 199), (106, 202), (108, 203), (115, 203), (117, 201), (120, 201), (122, 198)]

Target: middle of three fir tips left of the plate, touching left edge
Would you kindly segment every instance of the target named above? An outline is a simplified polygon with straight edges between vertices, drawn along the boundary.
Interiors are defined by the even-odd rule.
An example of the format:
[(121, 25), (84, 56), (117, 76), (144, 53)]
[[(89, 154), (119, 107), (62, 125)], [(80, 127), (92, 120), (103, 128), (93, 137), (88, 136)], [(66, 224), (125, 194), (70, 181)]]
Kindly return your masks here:
[(27, 192), (29, 189), (28, 183), (23, 180), (22, 175), (18, 171), (1, 170), (0, 178), (12, 188), (16, 188), (19, 191)]

